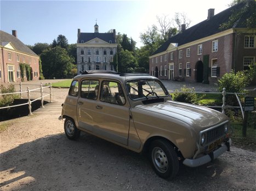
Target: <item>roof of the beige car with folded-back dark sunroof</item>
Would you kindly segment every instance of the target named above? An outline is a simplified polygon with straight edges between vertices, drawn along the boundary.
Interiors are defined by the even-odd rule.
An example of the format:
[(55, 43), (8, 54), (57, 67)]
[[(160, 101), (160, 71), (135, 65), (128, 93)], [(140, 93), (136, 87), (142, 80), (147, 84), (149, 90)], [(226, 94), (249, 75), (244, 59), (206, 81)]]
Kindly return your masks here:
[(157, 77), (151, 76), (150, 74), (146, 74), (146, 73), (122, 74), (112, 70), (86, 70), (86, 71), (83, 71), (82, 74), (75, 76), (73, 79), (79, 80), (83, 78), (112, 79), (112, 80), (118, 80), (122, 82), (126, 82), (127, 80), (136, 80), (136, 79), (158, 80)]

